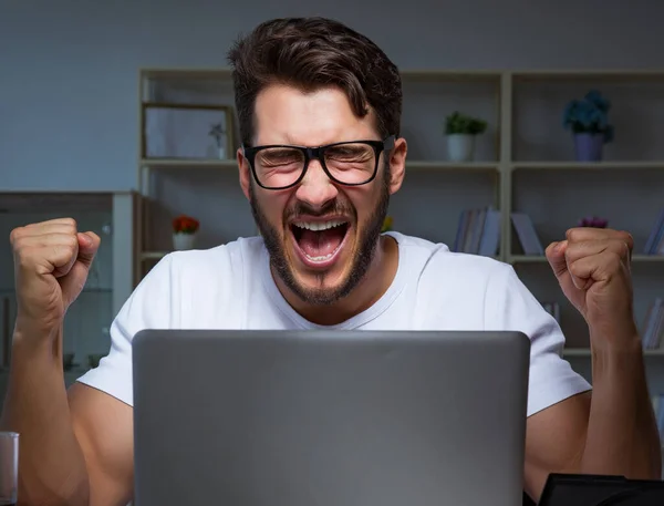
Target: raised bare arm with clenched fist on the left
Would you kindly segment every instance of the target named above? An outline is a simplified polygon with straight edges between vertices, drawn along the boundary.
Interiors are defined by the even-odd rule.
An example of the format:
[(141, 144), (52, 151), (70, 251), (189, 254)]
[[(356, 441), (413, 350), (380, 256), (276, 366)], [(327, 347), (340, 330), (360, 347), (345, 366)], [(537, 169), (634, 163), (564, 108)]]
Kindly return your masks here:
[(18, 227), (10, 241), (17, 321), (0, 430), (19, 433), (18, 502), (124, 506), (132, 495), (132, 410), (90, 386), (68, 394), (62, 364), (64, 317), (100, 238), (58, 218)]

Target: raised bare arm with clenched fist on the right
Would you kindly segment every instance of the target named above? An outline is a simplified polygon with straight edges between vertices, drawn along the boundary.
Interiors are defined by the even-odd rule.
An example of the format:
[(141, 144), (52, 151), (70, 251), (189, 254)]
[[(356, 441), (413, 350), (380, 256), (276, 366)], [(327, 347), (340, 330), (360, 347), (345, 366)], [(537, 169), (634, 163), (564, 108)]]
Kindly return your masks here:
[(592, 395), (528, 420), (526, 490), (538, 499), (549, 473), (661, 478), (661, 443), (634, 322), (629, 234), (578, 228), (547, 248), (562, 291), (590, 330)]

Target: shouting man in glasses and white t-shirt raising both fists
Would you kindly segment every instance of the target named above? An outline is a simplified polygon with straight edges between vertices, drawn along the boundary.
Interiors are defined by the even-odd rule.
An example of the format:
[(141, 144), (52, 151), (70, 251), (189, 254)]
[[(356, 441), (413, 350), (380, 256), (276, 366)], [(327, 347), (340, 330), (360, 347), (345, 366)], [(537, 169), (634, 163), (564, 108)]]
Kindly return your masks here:
[(560, 329), (509, 266), (380, 234), (407, 146), (398, 72), (378, 48), (333, 21), (274, 20), (230, 61), (240, 185), (262, 237), (167, 256), (114, 320), (108, 357), (69, 394), (62, 320), (100, 239), (66, 218), (11, 235), (18, 318), (2, 428), (22, 434), (24, 504), (131, 499), (131, 342), (144, 328), (521, 330), (532, 340), (528, 494), (537, 499), (550, 472), (660, 476), (629, 234), (574, 229), (547, 249), (589, 324), (591, 397), (559, 357)]

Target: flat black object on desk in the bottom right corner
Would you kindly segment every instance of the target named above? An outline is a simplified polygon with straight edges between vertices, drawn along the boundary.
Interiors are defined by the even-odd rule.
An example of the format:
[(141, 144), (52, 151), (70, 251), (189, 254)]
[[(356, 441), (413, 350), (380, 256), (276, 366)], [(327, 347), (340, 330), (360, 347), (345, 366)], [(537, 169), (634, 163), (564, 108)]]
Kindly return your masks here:
[(550, 474), (538, 506), (663, 506), (664, 482)]

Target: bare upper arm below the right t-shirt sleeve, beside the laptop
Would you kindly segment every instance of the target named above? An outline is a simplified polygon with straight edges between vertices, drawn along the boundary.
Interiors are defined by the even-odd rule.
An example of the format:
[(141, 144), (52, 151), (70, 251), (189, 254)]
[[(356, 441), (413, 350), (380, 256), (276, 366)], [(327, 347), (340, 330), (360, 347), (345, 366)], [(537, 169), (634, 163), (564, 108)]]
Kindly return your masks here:
[(528, 417), (526, 492), (538, 499), (550, 473), (573, 473), (581, 463), (591, 392), (572, 395)]

